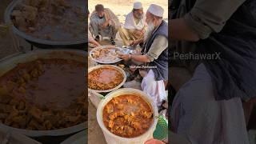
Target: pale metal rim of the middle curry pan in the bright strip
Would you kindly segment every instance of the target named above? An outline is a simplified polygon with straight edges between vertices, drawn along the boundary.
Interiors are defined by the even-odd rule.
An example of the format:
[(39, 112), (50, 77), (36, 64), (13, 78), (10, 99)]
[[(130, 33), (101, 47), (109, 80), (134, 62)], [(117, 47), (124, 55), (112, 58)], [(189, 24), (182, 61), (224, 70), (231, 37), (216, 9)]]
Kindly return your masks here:
[[(96, 93), (109, 93), (110, 91), (113, 90), (118, 90), (125, 82), (126, 82), (126, 72), (124, 70), (122, 70), (120, 67), (118, 66), (113, 66), (113, 65), (99, 65), (99, 66), (94, 66), (94, 67), (90, 67), (88, 69), (88, 74), (92, 71), (92, 70), (97, 70), (97, 69), (101, 69), (101, 68), (105, 68), (105, 67), (111, 67), (114, 68), (115, 70), (118, 70), (120, 73), (122, 73), (123, 76), (123, 80), (122, 82), (118, 85), (115, 86), (113, 89), (110, 90), (93, 90)], [(88, 88), (88, 90), (92, 90), (90, 88)]]

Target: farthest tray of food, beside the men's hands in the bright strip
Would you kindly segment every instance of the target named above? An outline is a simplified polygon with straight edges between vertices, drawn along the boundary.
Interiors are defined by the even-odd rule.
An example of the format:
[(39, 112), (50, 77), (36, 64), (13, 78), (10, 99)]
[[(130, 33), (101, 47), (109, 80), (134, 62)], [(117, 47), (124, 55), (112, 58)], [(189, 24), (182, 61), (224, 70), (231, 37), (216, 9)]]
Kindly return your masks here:
[(98, 46), (90, 51), (90, 57), (98, 63), (111, 64), (122, 61), (118, 58), (118, 54), (122, 53), (122, 49), (113, 46)]

